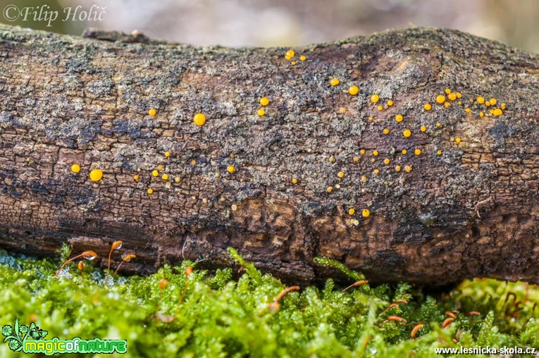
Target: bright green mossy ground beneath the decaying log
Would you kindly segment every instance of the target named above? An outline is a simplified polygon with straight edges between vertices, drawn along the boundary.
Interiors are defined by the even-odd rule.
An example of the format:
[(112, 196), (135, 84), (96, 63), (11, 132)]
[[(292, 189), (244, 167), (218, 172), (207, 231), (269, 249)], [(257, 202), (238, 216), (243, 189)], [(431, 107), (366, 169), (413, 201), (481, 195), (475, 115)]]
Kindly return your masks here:
[[(534, 285), (473, 280), (432, 296), (406, 283), (360, 285), (342, 292), (329, 279), (323, 288), (288, 293), (280, 309), (272, 312), (268, 304), (285, 285), (233, 250), (231, 254), (243, 268), (237, 280), (233, 269), (210, 274), (185, 261), (151, 276), (114, 276), (105, 283), (106, 272), (91, 265), (84, 277), (71, 264), (57, 278), (59, 260), (16, 258), (4, 252), (0, 325), (18, 318), (49, 331), (47, 339), (125, 339), (128, 357), (409, 357), (410, 352), (433, 357), (435, 347), (539, 348), (539, 323), (534, 318), (539, 289)], [(318, 261), (345, 271), (350, 283), (363, 278), (335, 262)], [(187, 266), (194, 266), (189, 276)], [(163, 278), (168, 285), (161, 289)], [(386, 310), (402, 299), (408, 303)], [(457, 319), (441, 328), (445, 311), (455, 309)], [(388, 316), (411, 324), (387, 321)], [(410, 339), (419, 322), (424, 322), (423, 328)], [(20, 355), (0, 345), (1, 357)]]

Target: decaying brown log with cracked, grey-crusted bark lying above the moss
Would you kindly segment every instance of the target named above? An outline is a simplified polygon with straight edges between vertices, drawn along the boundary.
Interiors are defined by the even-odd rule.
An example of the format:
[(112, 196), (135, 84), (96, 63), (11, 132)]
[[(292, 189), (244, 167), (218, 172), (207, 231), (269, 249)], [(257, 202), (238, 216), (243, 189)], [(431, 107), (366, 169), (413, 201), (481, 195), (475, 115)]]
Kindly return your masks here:
[(131, 273), (235, 247), (295, 283), (334, 274), (314, 257), (378, 282), (539, 283), (538, 56), (423, 28), (287, 50), (1, 25), (0, 246), (123, 240)]

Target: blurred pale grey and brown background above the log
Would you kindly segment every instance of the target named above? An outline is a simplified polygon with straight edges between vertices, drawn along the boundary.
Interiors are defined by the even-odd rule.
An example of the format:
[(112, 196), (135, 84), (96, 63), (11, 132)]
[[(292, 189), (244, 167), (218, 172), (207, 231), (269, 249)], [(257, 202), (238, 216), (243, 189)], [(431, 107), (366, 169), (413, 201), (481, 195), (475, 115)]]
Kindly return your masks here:
[[(13, 5), (18, 18), (16, 9), (6, 9)], [(435, 26), (539, 52), (538, 0), (0, 0), (0, 9), (0, 22), (11, 25), (74, 35), (85, 27), (137, 29), (197, 45), (297, 46)], [(47, 11), (58, 18), (47, 20)]]

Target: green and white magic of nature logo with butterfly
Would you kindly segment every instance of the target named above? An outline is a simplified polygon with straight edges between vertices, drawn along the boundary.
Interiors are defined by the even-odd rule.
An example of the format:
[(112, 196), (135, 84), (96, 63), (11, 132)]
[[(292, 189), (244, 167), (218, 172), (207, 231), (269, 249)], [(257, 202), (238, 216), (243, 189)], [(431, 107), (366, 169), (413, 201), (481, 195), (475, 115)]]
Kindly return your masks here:
[(9, 349), (13, 352), (24, 352), (28, 354), (58, 354), (58, 353), (125, 353), (128, 351), (127, 340), (82, 340), (79, 337), (70, 340), (60, 340), (54, 337), (51, 340), (44, 339), (49, 334), (48, 331), (40, 329), (34, 322), (30, 326), (19, 324), (15, 319), (15, 324), (2, 326), (4, 343), (8, 343)]

